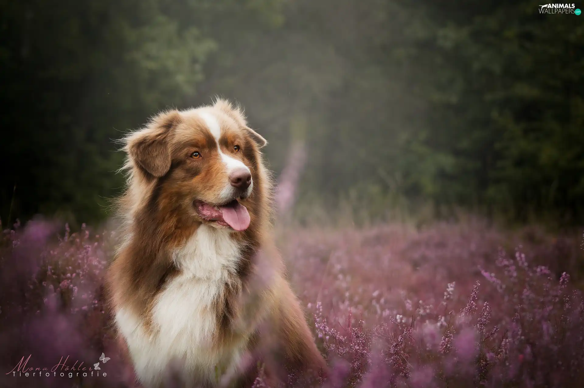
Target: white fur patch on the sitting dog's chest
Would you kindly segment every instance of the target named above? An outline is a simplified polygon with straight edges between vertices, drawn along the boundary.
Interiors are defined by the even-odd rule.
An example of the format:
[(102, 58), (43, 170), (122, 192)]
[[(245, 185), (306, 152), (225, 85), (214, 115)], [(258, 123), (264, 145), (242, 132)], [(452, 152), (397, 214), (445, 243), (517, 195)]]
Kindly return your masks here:
[[(152, 309), (152, 334), (140, 319), (120, 309), (116, 324), (126, 338), (141, 382), (157, 385), (168, 368), (183, 377), (215, 379), (215, 365), (232, 365), (242, 349), (212, 348), (217, 328), (213, 303), (228, 274), (235, 272), (239, 248), (225, 229), (201, 225), (185, 246), (173, 254), (180, 275), (160, 292)], [(242, 344), (243, 345), (243, 344)]]

